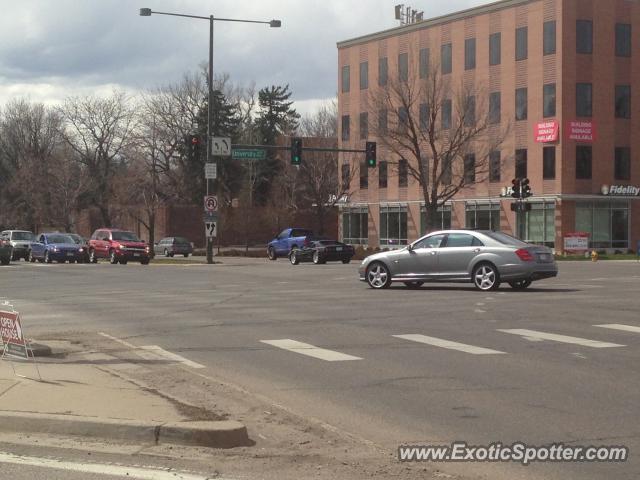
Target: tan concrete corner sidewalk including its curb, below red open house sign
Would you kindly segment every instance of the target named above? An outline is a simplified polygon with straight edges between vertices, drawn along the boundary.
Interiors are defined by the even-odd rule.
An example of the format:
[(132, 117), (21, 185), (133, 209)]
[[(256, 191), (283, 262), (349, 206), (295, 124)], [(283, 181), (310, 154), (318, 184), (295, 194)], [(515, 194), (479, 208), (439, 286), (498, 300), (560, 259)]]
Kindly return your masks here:
[[(71, 352), (36, 360), (42, 380), (32, 361), (0, 362), (0, 436), (31, 432), (215, 448), (251, 444), (241, 423), (190, 418), (170, 397), (129, 380), (122, 373), (126, 365), (110, 366), (108, 357)], [(11, 363), (28, 378), (15, 375)]]

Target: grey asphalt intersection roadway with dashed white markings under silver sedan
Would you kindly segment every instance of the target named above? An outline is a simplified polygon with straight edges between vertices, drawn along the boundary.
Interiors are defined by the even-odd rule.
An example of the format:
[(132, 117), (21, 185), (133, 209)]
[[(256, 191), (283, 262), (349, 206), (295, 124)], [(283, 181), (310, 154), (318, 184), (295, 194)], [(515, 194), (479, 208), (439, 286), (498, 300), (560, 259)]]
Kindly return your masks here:
[(356, 263), (222, 260), (21, 262), (0, 268), (0, 297), (21, 311), (29, 336), (102, 331), (160, 345), (391, 450), (454, 440), (631, 450), (625, 463), (439, 465), (445, 472), (640, 477), (640, 264), (561, 263), (558, 278), (528, 291), (481, 293), (451, 284), (373, 291)]

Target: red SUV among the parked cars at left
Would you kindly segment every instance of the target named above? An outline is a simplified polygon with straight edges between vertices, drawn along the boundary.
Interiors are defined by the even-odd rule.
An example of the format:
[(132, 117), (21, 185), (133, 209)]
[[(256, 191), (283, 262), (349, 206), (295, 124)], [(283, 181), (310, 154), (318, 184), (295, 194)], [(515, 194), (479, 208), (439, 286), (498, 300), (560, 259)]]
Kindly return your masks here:
[(99, 258), (108, 258), (113, 265), (126, 265), (129, 260), (148, 265), (149, 246), (133, 232), (100, 228), (89, 240), (89, 262), (98, 263)]

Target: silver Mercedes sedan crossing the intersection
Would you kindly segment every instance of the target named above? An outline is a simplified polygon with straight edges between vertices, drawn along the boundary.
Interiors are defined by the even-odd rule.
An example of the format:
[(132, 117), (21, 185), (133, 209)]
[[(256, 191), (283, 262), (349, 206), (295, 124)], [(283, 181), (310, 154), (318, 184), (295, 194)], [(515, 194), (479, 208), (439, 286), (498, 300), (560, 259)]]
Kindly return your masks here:
[(401, 250), (371, 255), (358, 269), (371, 288), (403, 282), (472, 282), (478, 290), (495, 290), (501, 282), (523, 290), (535, 280), (558, 275), (547, 247), (525, 243), (500, 232), (445, 230), (430, 233)]

